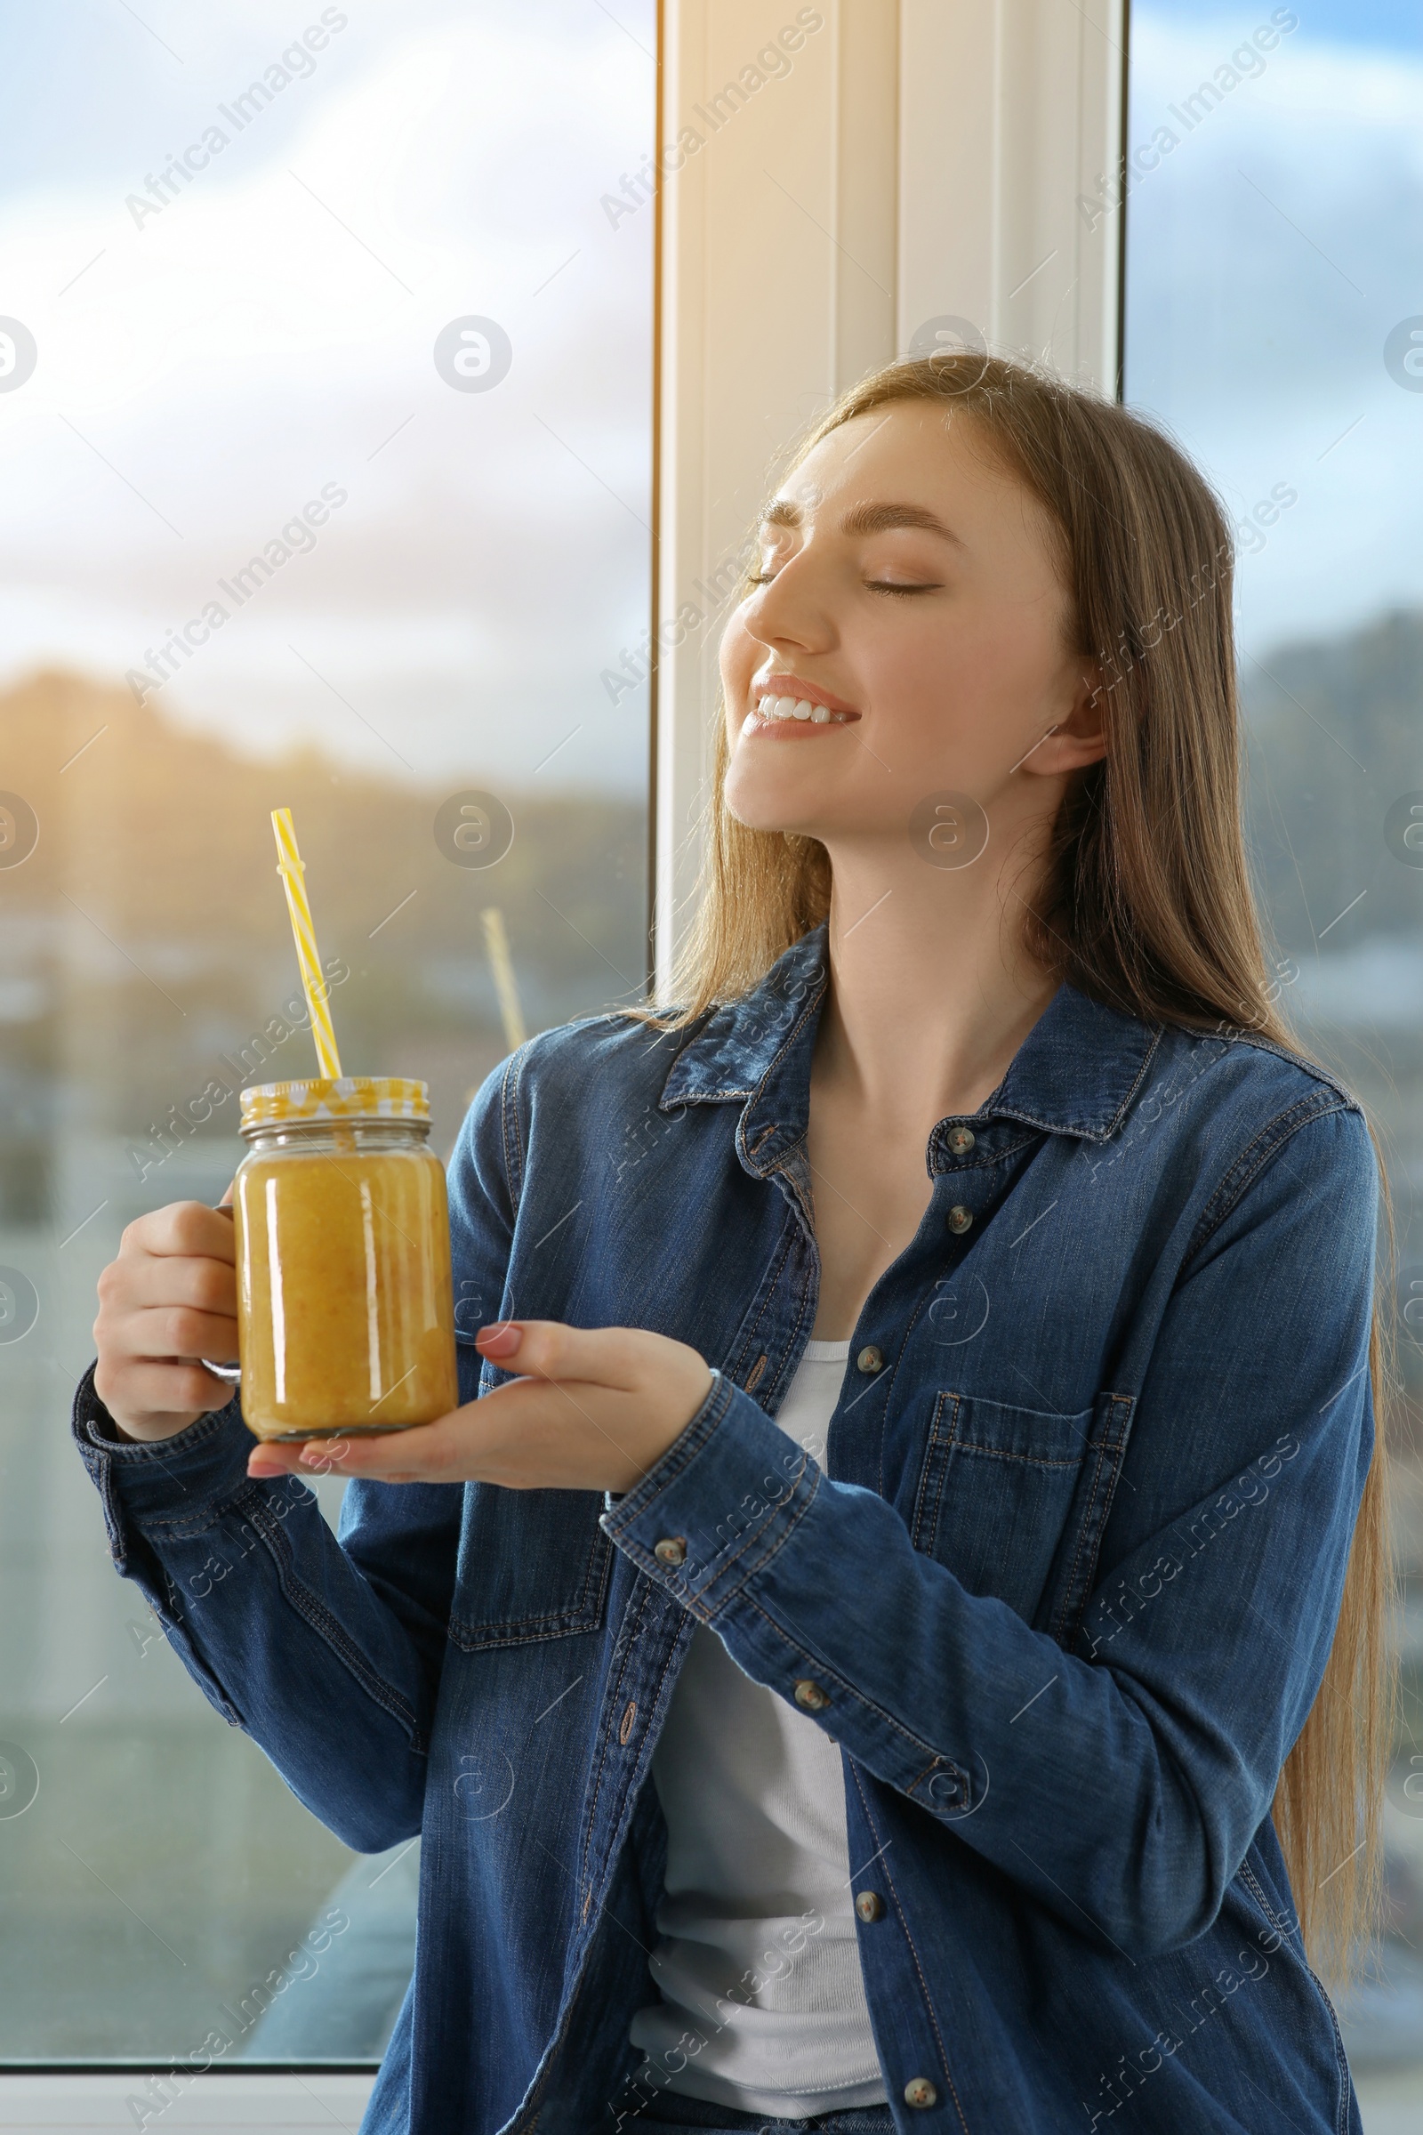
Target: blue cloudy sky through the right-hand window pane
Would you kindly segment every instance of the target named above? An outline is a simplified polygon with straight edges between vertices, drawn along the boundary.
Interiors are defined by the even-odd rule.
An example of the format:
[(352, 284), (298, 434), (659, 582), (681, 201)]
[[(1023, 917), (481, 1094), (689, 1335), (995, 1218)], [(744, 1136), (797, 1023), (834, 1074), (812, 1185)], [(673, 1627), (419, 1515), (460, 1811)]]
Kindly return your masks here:
[[(1231, 68), (1218, 105), (1184, 111), (1291, 17), (1261, 70)], [(1423, 9), (1152, 0), (1131, 56), (1131, 149), (1158, 126), (1178, 145), (1126, 203), (1126, 397), (1254, 521), (1244, 649), (1423, 604), (1423, 393), (1385, 365), (1389, 333), (1423, 314)]]

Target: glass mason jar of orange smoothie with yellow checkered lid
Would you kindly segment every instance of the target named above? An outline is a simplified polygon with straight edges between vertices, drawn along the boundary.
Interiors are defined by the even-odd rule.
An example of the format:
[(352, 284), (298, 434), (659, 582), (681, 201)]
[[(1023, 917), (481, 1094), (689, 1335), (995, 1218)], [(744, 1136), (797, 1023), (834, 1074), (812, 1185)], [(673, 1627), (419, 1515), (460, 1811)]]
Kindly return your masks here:
[(241, 1093), (233, 1185), (241, 1411), (258, 1439), (429, 1424), (459, 1403), (450, 1213), (429, 1089), (399, 1076)]

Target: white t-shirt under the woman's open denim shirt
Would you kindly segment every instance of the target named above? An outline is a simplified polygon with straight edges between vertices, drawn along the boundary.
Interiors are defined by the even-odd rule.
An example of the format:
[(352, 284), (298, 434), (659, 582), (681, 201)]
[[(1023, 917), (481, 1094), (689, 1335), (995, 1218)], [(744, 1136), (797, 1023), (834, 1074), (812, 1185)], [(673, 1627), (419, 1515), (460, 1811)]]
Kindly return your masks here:
[[(809, 1343), (777, 1416), (821, 1462), (847, 1356), (845, 1341)], [(783, 2118), (885, 2103), (836, 1744), (698, 1625), (653, 1783), (668, 1819), (661, 2003), (629, 2026), (653, 2082)]]

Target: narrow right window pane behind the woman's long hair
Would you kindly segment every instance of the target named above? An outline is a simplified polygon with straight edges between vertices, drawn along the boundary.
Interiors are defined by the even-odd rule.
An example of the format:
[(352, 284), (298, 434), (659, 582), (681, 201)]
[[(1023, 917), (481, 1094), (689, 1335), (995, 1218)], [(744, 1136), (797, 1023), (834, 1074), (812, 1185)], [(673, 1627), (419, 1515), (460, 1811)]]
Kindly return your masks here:
[(1397, 1204), (1406, 1725), (1389, 1932), (1344, 2030), (1365, 2124), (1402, 2131), (1423, 2124), (1423, 15), (1139, 0), (1126, 139), (1126, 399), (1235, 521), (1272, 989), (1372, 1106)]

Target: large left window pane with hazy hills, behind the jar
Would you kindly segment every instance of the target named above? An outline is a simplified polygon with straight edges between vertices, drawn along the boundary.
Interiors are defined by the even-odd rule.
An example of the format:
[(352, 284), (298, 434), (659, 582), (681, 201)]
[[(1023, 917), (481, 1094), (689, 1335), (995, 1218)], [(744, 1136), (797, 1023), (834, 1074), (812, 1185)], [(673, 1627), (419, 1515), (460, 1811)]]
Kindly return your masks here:
[(416, 1853), (207, 1706), (66, 1411), (124, 1223), (316, 1072), (271, 807), (442, 1155), (642, 989), (653, 32), (0, 4), (0, 2060), (373, 2058), (405, 1988)]

